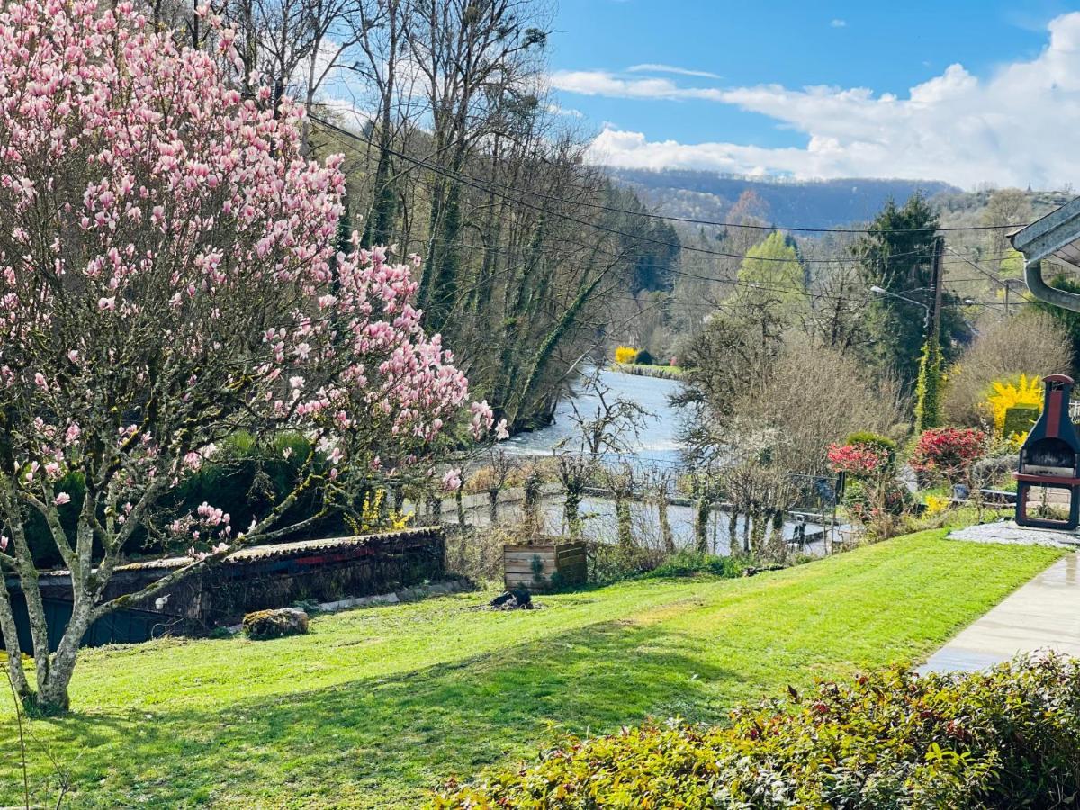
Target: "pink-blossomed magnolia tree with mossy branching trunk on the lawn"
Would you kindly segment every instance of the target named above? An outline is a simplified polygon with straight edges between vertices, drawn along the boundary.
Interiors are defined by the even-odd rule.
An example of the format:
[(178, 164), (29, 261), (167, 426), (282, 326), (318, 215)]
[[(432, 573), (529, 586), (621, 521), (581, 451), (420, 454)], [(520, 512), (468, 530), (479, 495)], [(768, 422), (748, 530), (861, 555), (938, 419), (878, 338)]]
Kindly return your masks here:
[[(214, 54), (178, 48), (131, 3), (16, 0), (0, 14), (0, 567), (25, 595), (36, 687), (5, 588), (0, 631), (15, 688), (43, 708), (67, 706), (79, 642), (118, 604), (430, 465), (459, 416), (476, 435), (491, 427), (424, 336), (415, 268), (355, 235), (336, 253), (340, 158), (305, 159), (302, 110), (269, 108), (266, 89), (242, 97), (231, 33), (217, 39)], [(231, 434), (283, 430), (311, 453), (251, 525), (212, 503), (163, 509)], [(312, 492), (316, 513), (281, 525)], [(54, 653), (35, 513), (71, 576)], [(190, 563), (109, 598), (136, 531), (190, 546)]]

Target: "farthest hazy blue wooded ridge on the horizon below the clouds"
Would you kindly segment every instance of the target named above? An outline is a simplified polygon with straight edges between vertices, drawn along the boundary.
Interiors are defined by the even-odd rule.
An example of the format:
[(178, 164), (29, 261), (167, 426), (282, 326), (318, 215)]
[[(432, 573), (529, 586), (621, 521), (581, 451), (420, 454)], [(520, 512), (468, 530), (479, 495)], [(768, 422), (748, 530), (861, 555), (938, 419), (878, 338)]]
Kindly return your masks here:
[(936, 180), (853, 178), (775, 180), (671, 168), (611, 168), (612, 177), (663, 214), (730, 221), (744, 215), (793, 228), (836, 228), (874, 217), (890, 197), (903, 202), (917, 191), (928, 197), (961, 194)]

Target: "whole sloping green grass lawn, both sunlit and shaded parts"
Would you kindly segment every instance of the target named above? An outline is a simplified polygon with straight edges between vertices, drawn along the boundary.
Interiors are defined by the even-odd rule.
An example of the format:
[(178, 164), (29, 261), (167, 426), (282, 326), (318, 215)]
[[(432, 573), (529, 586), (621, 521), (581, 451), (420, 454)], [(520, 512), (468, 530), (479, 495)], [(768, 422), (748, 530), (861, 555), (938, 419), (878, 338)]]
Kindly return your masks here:
[[(750, 579), (639, 580), (476, 610), (477, 594), (315, 618), (273, 642), (90, 650), (75, 713), (31, 724), (70, 807), (416, 807), (531, 757), (550, 725), (724, 721), (741, 701), (917, 661), (1045, 567), (1043, 548), (922, 532)], [(0, 805), (22, 800), (10, 707)], [(40, 800), (48, 759), (31, 744)]]

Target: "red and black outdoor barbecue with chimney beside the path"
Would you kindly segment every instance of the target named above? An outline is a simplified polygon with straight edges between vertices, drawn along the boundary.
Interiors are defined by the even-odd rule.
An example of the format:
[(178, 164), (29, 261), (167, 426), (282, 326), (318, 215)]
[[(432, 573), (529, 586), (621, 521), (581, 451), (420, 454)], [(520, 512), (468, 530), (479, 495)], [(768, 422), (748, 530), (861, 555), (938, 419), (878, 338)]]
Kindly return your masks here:
[(1080, 441), (1069, 418), (1072, 378), (1052, 374), (1042, 381), (1042, 414), (1024, 440), (1020, 470), (1013, 473), (1016, 523), (1071, 531), (1080, 525)]

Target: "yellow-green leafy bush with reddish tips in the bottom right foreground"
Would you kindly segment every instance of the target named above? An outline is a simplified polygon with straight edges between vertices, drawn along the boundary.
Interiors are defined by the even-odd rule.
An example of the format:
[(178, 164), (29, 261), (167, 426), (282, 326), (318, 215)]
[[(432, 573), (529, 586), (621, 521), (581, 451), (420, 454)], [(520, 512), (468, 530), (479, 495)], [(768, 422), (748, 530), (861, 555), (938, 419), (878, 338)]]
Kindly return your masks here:
[(438, 808), (1004, 808), (1080, 799), (1080, 666), (894, 667), (732, 713), (567, 737), (531, 767), (450, 783)]

